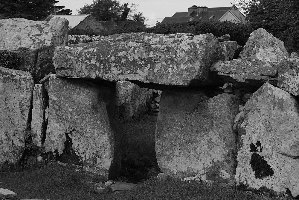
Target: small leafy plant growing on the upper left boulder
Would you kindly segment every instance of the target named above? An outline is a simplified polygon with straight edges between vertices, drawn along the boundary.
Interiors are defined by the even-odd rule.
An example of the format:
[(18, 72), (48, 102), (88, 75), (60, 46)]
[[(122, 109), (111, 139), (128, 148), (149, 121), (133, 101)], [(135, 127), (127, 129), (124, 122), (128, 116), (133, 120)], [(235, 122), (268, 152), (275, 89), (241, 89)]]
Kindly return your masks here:
[(9, 51), (0, 51), (0, 65), (2, 67), (16, 69), (22, 64), (22, 58), (18, 58), (17, 54)]

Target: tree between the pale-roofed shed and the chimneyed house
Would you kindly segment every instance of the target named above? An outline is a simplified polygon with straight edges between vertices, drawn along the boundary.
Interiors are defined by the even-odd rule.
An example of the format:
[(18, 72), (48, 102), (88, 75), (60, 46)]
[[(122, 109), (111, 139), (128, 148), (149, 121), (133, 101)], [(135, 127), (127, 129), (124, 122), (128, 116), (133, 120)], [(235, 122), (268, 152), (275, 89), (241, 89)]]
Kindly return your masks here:
[(90, 14), (98, 21), (109, 21), (111, 18), (120, 21), (146, 21), (143, 12), (137, 13), (137, 7), (134, 3), (122, 5), (117, 0), (93, 0), (91, 4), (84, 4), (77, 11), (79, 14)]

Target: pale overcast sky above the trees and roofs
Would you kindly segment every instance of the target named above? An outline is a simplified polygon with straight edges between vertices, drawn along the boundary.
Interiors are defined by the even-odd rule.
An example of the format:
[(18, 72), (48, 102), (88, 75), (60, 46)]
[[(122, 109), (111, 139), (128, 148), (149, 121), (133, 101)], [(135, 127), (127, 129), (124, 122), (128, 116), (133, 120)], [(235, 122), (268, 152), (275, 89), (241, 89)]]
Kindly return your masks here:
[[(154, 25), (156, 21), (161, 22), (164, 17), (171, 17), (176, 12), (187, 12), (188, 7), (206, 6), (206, 7), (227, 7), (231, 6), (233, 0), (120, 0), (120, 3), (139, 4), (138, 11), (143, 12), (149, 20), (147, 25)], [(72, 14), (78, 14), (77, 10), (85, 3), (91, 4), (92, 0), (59, 0), (55, 5), (63, 5), (66, 9), (71, 9)]]

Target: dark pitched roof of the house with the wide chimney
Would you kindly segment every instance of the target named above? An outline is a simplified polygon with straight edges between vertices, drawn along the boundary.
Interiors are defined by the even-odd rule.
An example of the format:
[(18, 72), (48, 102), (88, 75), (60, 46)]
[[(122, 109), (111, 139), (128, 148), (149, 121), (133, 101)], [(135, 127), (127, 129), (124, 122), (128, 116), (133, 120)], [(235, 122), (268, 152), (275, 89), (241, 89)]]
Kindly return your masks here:
[[(234, 6), (230, 7), (211, 7), (207, 8), (207, 12), (202, 12), (199, 14), (199, 16), (196, 16), (196, 12), (190, 13), (190, 16), (188, 16), (188, 12), (179, 12), (175, 13), (171, 17), (165, 17), (162, 22), (165, 23), (171, 23), (171, 22), (187, 22), (191, 17), (193, 17), (195, 20), (198, 20), (200, 17), (201, 19), (209, 19), (211, 16), (214, 16), (214, 20), (219, 20), (225, 13), (227, 13), (228, 10), (231, 10)], [(161, 22), (161, 23), (162, 23)]]

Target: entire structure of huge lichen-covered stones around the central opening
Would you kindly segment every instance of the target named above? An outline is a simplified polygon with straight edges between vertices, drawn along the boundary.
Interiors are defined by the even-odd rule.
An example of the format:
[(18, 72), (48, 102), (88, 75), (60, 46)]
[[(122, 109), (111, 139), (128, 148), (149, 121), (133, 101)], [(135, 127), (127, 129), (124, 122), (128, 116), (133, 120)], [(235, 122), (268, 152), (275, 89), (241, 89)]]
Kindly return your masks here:
[[(64, 46), (64, 21), (5, 19), (0, 23), (5, 24), (1, 28), (15, 24), (20, 29), (9, 34), (8, 28), (0, 28), (0, 34), (15, 41), (0, 49), (22, 53), (33, 49), (26, 54), (33, 59), (31, 55), (39, 58), (36, 49), (46, 52), (40, 48), (49, 44), (47, 59), (54, 53), (52, 73), (56, 73), (50, 80), (48, 76), (40, 80), (36, 74), (44, 71), (36, 66), (42, 65), (30, 65), (28, 71), (49, 96), (44, 115), (35, 120), (31, 101), (41, 105), (42, 98), (37, 97), (44, 96), (43, 86), (36, 86), (32, 100), (31, 74), (0, 67), (0, 122), (5, 125), (0, 128), (4, 149), (0, 163), (18, 162), (25, 146), (35, 145), (38, 161), (55, 157), (107, 179), (118, 176), (126, 169), (128, 152), (115, 110), (116, 82), (126, 80), (164, 90), (155, 136), (163, 172), (195, 181), (234, 180), (249, 189), (266, 186), (276, 194), (299, 195), (299, 106), (294, 97), (298, 96), (299, 58), (295, 53), (289, 58), (283, 42), (264, 29), (254, 31), (238, 58), (232, 59), (240, 47), (228, 36), (218, 38), (219, 42), (212, 34), (126, 33)], [(30, 25), (39, 27), (38, 31)], [(26, 37), (20, 34), (23, 29)], [(32, 40), (30, 31), (37, 32), (36, 37), (40, 31), (45, 31), (42, 36), (57, 31), (58, 36)], [(47, 59), (41, 56), (36, 63), (50, 63)], [(34, 113), (43, 113), (45, 104)], [(35, 125), (30, 132), (26, 127), (31, 121), (48, 123), (47, 134), (41, 135), (42, 128)]]

